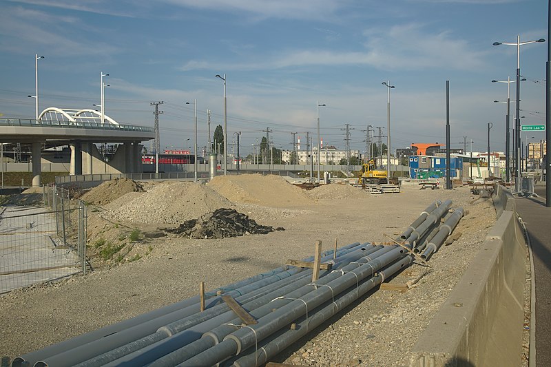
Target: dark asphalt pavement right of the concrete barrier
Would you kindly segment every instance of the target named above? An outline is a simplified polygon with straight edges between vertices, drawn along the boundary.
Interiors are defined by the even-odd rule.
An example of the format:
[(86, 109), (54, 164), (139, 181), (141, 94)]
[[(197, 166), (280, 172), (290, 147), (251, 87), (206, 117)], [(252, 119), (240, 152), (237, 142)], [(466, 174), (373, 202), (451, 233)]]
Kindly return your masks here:
[[(537, 185), (535, 191), (544, 195), (545, 185)], [(545, 198), (515, 200), (517, 212), (526, 222), (534, 257), (536, 366), (551, 366), (551, 208), (545, 207)]]

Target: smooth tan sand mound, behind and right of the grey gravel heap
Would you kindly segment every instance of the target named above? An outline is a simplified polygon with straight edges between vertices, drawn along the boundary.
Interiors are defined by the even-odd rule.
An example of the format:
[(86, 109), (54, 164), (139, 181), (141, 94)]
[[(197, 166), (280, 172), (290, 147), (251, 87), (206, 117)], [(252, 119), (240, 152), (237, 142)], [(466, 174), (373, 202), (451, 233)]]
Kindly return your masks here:
[(276, 208), (313, 204), (300, 187), (280, 176), (216, 176), (207, 185), (232, 202)]

